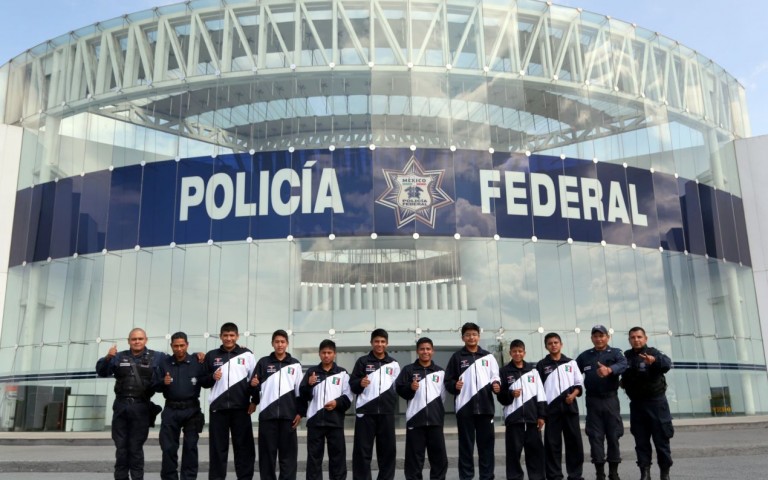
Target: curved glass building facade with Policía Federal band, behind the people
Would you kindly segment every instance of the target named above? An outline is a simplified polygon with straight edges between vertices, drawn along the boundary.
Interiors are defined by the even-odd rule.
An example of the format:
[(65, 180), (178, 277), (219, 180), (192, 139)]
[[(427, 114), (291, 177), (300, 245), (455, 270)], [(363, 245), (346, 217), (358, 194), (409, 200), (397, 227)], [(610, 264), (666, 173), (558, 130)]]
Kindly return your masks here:
[(532, 0), (193, 0), (31, 48), (0, 67), (0, 429), (102, 429), (110, 345), (227, 321), (348, 368), (377, 327), (445, 363), (467, 321), (531, 361), (641, 325), (675, 415), (764, 413), (745, 104), (692, 49)]

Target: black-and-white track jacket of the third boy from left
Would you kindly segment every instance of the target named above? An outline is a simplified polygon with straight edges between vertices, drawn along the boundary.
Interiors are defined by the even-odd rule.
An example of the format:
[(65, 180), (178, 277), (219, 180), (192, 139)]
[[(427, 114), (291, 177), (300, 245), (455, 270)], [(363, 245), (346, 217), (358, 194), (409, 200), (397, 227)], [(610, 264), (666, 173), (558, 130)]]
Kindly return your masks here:
[[(317, 383), (309, 384), (312, 374), (317, 375)], [(307, 404), (307, 427), (344, 428), (344, 412), (352, 405), (352, 392), (349, 389), (349, 374), (335, 363), (331, 370), (323, 370), (322, 364), (310, 367), (301, 379), (299, 393)], [(336, 400), (336, 408), (326, 410), (324, 405)]]

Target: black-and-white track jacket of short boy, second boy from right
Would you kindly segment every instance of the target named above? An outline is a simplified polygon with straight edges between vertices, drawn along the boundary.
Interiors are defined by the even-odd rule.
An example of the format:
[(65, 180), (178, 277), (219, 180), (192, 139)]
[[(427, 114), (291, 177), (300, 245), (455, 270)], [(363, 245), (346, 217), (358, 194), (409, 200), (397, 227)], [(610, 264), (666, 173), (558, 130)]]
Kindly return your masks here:
[[(514, 362), (504, 365), (500, 372), (501, 390), (496, 395), (504, 405), (504, 423), (536, 423), (539, 418), (547, 417), (547, 397), (541, 376), (532, 363), (523, 362), (522, 368)], [(519, 383), (518, 383), (519, 381)], [(517, 385), (515, 385), (517, 383)], [(518, 402), (510, 387), (522, 390)]]

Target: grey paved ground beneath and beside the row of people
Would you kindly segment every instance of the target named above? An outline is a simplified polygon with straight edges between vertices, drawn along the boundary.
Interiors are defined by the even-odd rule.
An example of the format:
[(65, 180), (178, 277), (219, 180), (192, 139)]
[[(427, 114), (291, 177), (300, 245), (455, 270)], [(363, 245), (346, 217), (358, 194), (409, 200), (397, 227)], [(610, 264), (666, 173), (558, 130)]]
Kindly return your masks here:
[[(498, 429), (496, 441), (496, 475), (504, 478), (504, 440)], [(351, 438), (351, 433), (349, 435)], [(303, 436), (300, 440), (303, 443)], [(457, 479), (455, 433), (446, 435), (451, 461), (448, 479)], [(200, 449), (201, 474), (207, 478), (207, 438)], [(585, 440), (585, 445), (587, 445)], [(634, 465), (634, 443), (627, 430), (622, 441), (621, 466), (623, 480), (638, 477)], [(300, 445), (300, 460), (303, 445)], [(398, 474), (402, 475), (404, 440), (399, 432)], [(701, 480), (722, 478), (765, 478), (768, 471), (768, 417), (742, 417), (727, 419), (697, 419), (676, 422), (676, 434), (672, 440), (675, 458), (672, 478), (696, 478)], [(147, 479), (157, 479), (160, 468), (160, 450), (157, 433), (145, 447)], [(348, 444), (348, 454), (351, 445)], [(114, 449), (107, 432), (97, 433), (0, 433), (0, 480), (92, 480), (110, 478)], [(231, 463), (231, 461), (230, 461)], [(375, 463), (375, 462), (374, 462)], [(299, 477), (304, 476), (304, 463), (300, 461)], [(585, 478), (594, 478), (591, 465), (585, 465)], [(234, 475), (231, 475), (234, 478)], [(428, 473), (425, 471), (425, 477)], [(351, 473), (350, 473), (351, 478)], [(654, 471), (654, 478), (658, 478)]]

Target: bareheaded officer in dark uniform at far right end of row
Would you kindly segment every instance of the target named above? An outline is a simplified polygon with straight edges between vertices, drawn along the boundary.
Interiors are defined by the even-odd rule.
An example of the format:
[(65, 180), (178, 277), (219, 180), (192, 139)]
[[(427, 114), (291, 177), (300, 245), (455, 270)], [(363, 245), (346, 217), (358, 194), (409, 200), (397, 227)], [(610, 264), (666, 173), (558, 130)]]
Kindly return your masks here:
[(648, 337), (642, 327), (629, 331), (629, 344), (632, 348), (624, 352), (628, 367), (621, 376), (621, 386), (630, 399), (629, 428), (635, 437), (640, 480), (651, 478), (651, 438), (656, 445), (660, 478), (669, 480), (672, 466), (669, 439), (674, 435), (674, 429), (664, 395), (667, 391), (664, 374), (672, 367), (672, 360), (648, 346)]

